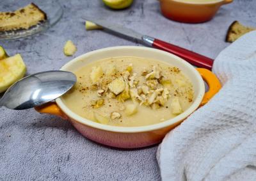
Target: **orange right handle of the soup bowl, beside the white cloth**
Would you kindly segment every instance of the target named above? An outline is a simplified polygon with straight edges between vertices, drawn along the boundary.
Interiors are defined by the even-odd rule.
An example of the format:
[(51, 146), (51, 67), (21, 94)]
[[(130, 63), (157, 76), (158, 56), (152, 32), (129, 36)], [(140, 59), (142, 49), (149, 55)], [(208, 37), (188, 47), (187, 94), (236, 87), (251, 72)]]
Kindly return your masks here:
[(209, 90), (205, 92), (204, 98), (200, 106), (204, 106), (221, 88), (219, 79), (210, 70), (205, 68), (196, 68), (199, 74), (202, 76), (204, 81), (208, 84)]

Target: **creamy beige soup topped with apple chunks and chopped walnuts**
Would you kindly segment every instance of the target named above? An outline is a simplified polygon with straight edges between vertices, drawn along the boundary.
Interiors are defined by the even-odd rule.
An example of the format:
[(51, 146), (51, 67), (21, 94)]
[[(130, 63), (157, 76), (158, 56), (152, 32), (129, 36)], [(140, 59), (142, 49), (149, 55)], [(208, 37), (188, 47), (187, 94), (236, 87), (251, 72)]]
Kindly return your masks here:
[(193, 85), (177, 67), (154, 59), (115, 57), (94, 61), (77, 72), (63, 96), (74, 113), (122, 127), (169, 120), (193, 103)]

